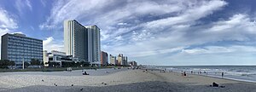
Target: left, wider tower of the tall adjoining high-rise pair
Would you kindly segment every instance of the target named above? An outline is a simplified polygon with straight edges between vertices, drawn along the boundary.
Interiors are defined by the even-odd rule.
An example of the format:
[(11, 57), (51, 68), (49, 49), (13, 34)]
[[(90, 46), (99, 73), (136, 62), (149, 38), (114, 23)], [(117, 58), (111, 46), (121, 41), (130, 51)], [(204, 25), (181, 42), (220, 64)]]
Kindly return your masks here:
[(86, 37), (86, 29), (78, 21), (64, 21), (64, 48), (67, 55), (88, 61)]

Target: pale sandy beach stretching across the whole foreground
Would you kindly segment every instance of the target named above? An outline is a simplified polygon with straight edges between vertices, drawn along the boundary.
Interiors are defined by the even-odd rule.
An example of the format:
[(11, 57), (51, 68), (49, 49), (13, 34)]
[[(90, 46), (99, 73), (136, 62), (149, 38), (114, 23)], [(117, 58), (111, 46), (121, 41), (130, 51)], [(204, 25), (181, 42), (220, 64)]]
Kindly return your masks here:
[[(255, 92), (256, 83), (177, 72), (129, 69), (82, 70), (73, 72), (1, 72), (0, 91), (12, 92)], [(109, 72), (109, 73), (106, 73)], [(212, 82), (224, 86), (210, 87)]]

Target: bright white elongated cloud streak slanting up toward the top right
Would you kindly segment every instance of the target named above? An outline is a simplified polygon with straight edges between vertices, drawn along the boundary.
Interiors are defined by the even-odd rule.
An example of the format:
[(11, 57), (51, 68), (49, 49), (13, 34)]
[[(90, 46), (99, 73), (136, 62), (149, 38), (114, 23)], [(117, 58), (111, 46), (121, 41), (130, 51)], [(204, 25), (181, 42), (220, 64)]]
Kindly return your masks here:
[(160, 26), (172, 26), (180, 23), (189, 24), (195, 22), (195, 20), (206, 17), (208, 14), (212, 14), (213, 11), (221, 9), (226, 4), (226, 2), (218, 0), (202, 2), (196, 7), (184, 10), (184, 12), (178, 16), (150, 21), (147, 23), (147, 27), (158, 28)]

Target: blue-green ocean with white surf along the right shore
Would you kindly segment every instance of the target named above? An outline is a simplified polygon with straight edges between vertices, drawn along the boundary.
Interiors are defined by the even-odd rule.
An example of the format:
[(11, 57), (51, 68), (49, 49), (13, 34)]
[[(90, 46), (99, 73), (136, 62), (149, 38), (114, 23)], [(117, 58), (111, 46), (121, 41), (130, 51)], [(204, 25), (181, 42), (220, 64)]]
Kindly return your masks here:
[[(186, 72), (215, 78), (256, 83), (256, 66), (154, 66), (172, 72)], [(224, 77), (222, 77), (224, 72)]]

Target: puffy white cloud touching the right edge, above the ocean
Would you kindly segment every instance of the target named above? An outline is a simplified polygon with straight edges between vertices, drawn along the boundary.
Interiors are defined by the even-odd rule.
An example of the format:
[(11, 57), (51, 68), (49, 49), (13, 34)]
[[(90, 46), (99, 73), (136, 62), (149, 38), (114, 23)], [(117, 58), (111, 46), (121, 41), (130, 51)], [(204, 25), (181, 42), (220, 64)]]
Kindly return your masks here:
[(246, 14), (234, 14), (228, 20), (212, 23), (207, 29), (196, 33), (202, 35), (201, 41), (250, 41), (256, 39), (256, 23)]

